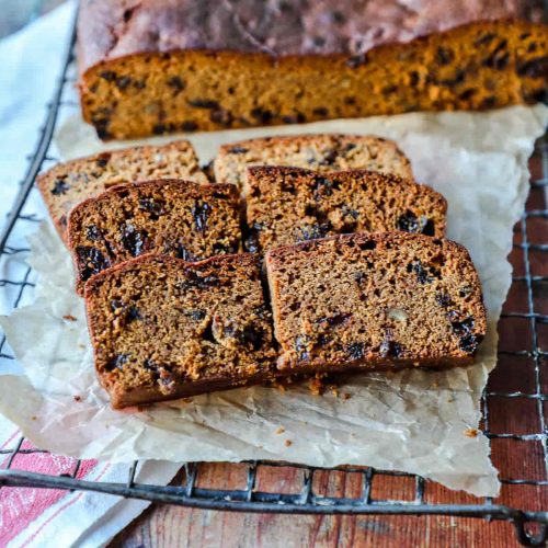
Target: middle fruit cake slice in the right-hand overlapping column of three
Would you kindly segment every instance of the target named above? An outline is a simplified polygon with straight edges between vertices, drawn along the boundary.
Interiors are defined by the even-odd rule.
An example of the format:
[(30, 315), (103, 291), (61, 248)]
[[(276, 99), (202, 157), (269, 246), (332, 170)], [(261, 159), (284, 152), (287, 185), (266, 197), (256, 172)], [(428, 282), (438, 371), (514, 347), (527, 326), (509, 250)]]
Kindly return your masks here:
[(248, 251), (349, 232), (445, 235), (445, 198), (398, 175), (266, 165), (249, 168), (244, 187)]

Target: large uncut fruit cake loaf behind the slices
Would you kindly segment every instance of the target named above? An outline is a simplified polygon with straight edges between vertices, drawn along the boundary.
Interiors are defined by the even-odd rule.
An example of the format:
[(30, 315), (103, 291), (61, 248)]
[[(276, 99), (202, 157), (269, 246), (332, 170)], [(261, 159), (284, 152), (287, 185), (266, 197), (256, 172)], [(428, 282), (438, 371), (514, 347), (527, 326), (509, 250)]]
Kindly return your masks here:
[(546, 101), (530, 4), (83, 0), (83, 117), (110, 139)]

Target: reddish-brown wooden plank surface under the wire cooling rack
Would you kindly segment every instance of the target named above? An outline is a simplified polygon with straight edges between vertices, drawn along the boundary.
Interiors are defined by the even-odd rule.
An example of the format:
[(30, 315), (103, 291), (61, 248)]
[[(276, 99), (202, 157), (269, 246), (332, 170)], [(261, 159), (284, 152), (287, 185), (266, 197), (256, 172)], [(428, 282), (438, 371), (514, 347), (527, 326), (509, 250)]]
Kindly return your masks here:
[[(533, 178), (540, 178), (539, 158), (530, 163)], [(546, 191), (534, 189), (527, 201), (528, 209), (546, 208)], [(527, 221), (529, 243), (548, 241), (548, 219), (530, 218)], [(520, 224), (514, 243), (523, 242)], [(511, 253), (514, 275), (525, 275), (524, 252), (514, 248)], [(529, 252), (530, 273), (548, 276), (548, 252)], [(534, 309), (548, 313), (548, 285), (533, 284)], [(528, 312), (527, 287), (515, 281), (504, 306), (506, 312)], [(537, 345), (548, 351), (548, 330), (537, 324)], [(504, 318), (500, 322), (500, 349), (506, 351), (530, 350), (533, 332), (530, 321)], [(491, 375), (489, 388), (493, 391), (523, 391), (534, 393), (534, 361), (523, 356), (501, 356)], [(544, 391), (548, 391), (548, 361), (541, 362)], [(489, 399), (491, 433), (540, 433), (537, 403), (527, 398)], [(548, 407), (545, 409), (547, 418)], [(504, 479), (547, 480), (545, 455), (538, 441), (493, 439), (492, 459)], [(261, 491), (298, 492), (300, 471), (293, 468), (267, 468), (258, 477)], [(176, 482), (181, 482), (178, 478)], [(341, 471), (320, 471), (315, 475), (313, 491), (331, 496), (357, 496), (362, 487), (361, 475)], [(202, 465), (198, 476), (201, 487), (242, 489), (246, 484), (244, 465)], [(411, 478), (379, 477), (373, 482), (374, 499), (412, 500), (414, 481)], [(471, 504), (483, 502), (461, 492), (454, 492), (436, 483), (426, 483), (425, 502)], [(503, 484), (494, 503), (530, 510), (548, 511), (548, 487), (530, 484)], [(536, 530), (535, 528), (533, 530)], [(505, 522), (429, 517), (380, 516), (313, 516), (240, 514), (152, 505), (138, 520), (122, 532), (111, 547), (512, 547), (520, 546), (514, 527)]]

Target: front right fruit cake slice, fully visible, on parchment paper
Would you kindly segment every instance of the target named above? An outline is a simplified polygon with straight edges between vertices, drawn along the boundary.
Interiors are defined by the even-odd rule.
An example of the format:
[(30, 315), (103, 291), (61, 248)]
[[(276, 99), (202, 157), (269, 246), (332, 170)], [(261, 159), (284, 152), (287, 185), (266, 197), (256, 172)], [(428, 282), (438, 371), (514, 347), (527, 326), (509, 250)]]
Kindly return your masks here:
[(466, 365), (486, 334), (478, 274), (448, 240), (338, 236), (265, 263), (285, 373)]

